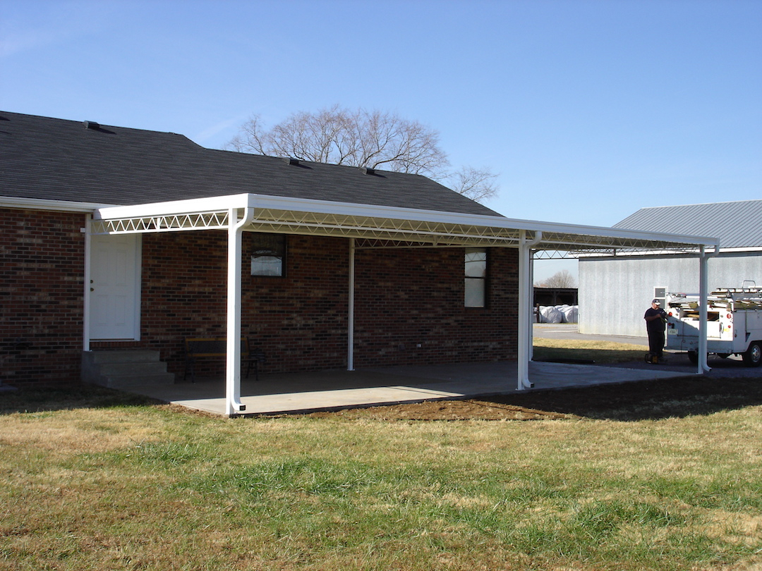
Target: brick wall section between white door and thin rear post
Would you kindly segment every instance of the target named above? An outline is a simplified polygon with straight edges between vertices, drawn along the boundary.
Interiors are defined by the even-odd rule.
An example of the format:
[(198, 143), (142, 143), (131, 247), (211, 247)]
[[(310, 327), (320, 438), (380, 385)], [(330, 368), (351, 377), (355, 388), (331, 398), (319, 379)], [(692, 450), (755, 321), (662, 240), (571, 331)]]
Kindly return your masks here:
[[(252, 235), (243, 237), (242, 334), (267, 353), (267, 371), (346, 366), (348, 242), (290, 236), (286, 276), (251, 276)], [(142, 344), (182, 375), (184, 337), (225, 337), (227, 234), (146, 234)], [(206, 359), (197, 373), (222, 372)]]

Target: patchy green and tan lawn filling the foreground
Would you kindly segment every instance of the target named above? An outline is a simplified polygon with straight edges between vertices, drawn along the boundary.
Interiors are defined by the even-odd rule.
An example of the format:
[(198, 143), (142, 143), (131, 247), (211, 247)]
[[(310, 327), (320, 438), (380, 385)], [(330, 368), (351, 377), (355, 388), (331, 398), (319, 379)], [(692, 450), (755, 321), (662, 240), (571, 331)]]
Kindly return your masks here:
[(0, 410), (0, 569), (762, 565), (758, 405), (224, 419), (82, 388)]

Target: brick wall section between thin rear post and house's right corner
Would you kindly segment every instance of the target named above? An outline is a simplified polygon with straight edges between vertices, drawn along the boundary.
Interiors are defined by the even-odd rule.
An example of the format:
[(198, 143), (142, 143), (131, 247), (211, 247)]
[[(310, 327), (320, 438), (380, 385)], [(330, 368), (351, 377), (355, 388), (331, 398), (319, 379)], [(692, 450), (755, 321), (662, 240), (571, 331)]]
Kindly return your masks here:
[(487, 307), (463, 306), (463, 250), (360, 250), (355, 365), (515, 359), (517, 250), (488, 250)]

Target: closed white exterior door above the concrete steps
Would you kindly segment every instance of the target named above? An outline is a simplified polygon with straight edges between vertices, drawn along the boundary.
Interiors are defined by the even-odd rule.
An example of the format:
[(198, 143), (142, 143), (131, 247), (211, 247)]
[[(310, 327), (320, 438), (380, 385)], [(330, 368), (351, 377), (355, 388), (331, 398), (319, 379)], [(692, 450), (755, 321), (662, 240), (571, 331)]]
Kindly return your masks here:
[(90, 252), (90, 339), (139, 339), (139, 235), (92, 236)]

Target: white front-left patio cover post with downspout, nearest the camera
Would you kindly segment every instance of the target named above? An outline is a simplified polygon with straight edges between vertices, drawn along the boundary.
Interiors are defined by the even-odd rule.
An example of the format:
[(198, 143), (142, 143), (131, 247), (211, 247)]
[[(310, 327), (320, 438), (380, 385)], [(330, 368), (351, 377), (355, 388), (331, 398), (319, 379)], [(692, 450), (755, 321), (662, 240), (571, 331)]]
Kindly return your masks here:
[(246, 410), (241, 404), (241, 264), (243, 227), (251, 222), (253, 209), (245, 209), (238, 219), (238, 209), (228, 214), (228, 324), (226, 349), (225, 403), (228, 416)]

